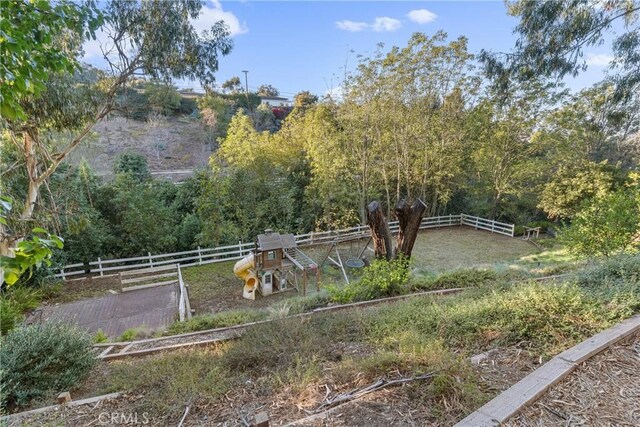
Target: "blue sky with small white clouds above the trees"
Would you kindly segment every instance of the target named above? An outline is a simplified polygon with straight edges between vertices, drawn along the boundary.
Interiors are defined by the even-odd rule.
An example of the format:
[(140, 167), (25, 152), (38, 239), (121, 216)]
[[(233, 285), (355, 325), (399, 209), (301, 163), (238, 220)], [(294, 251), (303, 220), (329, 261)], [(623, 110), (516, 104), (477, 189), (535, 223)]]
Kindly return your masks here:
[[(444, 30), (451, 39), (464, 35), (469, 50), (508, 51), (515, 43), (517, 20), (502, 1), (208, 1), (196, 28), (218, 19), (231, 28), (235, 47), (221, 58), (218, 83), (249, 70), (249, 89), (271, 84), (283, 96), (301, 90), (322, 95), (339, 86), (345, 65), (370, 54), (379, 42), (404, 46), (414, 32)], [(98, 64), (95, 46), (86, 60)], [(601, 80), (610, 59), (607, 46), (586, 51), (588, 70), (566, 84), (573, 90)], [(197, 83), (176, 82), (181, 87)]]

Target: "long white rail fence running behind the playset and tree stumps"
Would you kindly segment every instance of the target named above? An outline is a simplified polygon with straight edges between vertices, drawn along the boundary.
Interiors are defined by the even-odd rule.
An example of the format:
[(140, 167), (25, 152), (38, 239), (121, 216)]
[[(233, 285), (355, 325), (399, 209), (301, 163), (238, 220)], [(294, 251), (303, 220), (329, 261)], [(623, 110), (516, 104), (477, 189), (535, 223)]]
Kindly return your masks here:
[[(456, 225), (467, 225), (476, 229), (487, 230), (492, 233), (503, 234), (510, 237), (513, 237), (514, 234), (513, 224), (465, 214), (423, 218), (420, 229), (425, 230), (428, 228), (450, 227)], [(392, 233), (397, 233), (399, 228), (398, 221), (390, 222), (389, 228)], [(340, 240), (349, 240), (369, 237), (369, 227), (366, 225), (359, 225), (341, 230), (299, 234), (295, 237), (296, 242), (300, 246), (319, 245), (323, 243), (331, 243), (337, 238)], [(60, 269), (60, 273), (56, 274), (55, 277), (60, 277), (64, 280), (73, 278), (73, 276), (86, 274), (108, 277), (117, 275), (120, 271), (145, 267), (158, 267), (168, 264), (180, 264), (181, 267), (191, 267), (194, 265), (210, 264), (214, 262), (233, 261), (245, 257), (254, 248), (254, 243), (238, 242), (237, 245), (206, 249), (198, 247), (198, 249), (191, 251), (174, 252), (170, 254), (151, 255), (151, 253), (148, 253), (147, 256), (106, 260), (98, 258), (97, 261), (92, 261), (88, 264), (88, 270), (85, 270), (85, 264), (83, 263), (65, 265)]]

